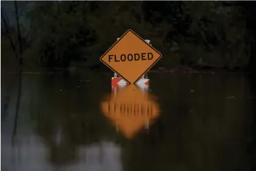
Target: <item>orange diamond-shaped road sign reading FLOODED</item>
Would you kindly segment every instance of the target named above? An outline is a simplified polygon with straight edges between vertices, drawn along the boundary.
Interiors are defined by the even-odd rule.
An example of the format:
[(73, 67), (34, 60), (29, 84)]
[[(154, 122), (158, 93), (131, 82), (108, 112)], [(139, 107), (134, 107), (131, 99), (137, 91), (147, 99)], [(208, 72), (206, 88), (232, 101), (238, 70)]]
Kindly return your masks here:
[(128, 30), (100, 57), (101, 62), (135, 84), (161, 59), (162, 54), (134, 31)]

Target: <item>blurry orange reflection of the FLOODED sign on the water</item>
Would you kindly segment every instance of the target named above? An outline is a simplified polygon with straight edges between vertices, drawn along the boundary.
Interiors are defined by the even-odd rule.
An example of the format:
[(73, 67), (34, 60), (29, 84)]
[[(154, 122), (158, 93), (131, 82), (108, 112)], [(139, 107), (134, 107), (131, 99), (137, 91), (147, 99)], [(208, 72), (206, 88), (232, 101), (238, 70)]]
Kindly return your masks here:
[(112, 87), (111, 95), (101, 103), (103, 114), (117, 131), (131, 139), (141, 129), (149, 126), (159, 116), (156, 98), (148, 92), (148, 85), (137, 87)]

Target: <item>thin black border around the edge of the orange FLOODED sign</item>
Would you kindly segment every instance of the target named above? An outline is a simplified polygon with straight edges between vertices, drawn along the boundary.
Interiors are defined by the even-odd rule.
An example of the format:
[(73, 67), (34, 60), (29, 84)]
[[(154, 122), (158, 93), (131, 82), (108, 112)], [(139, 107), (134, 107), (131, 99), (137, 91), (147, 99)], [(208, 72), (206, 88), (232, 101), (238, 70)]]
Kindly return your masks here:
[(112, 68), (110, 65), (106, 64), (106, 62), (104, 62), (104, 61), (102, 60), (102, 58), (103, 58), (109, 51), (111, 51), (111, 49), (114, 48), (114, 46), (117, 45), (117, 43), (119, 43), (119, 41), (122, 40), (122, 38), (125, 37), (126, 34), (128, 34), (128, 32), (132, 32), (134, 35), (137, 36), (137, 38), (141, 39), (142, 42), (144, 42), (147, 46), (149, 46), (150, 48), (152, 48), (153, 50), (155, 50), (156, 53), (159, 54), (159, 58), (158, 58), (155, 62), (153, 62), (153, 64), (150, 65), (150, 67), (148, 67), (147, 70), (145, 70), (144, 73), (142, 73), (142, 75), (139, 76), (139, 78), (137, 78), (135, 82), (133, 82), (133, 84), (136, 84), (136, 82), (139, 81), (139, 79), (141, 79), (141, 77), (142, 77), (143, 75), (145, 75), (145, 73), (147, 73), (147, 71), (150, 70), (150, 68), (152, 68), (153, 65), (155, 65), (156, 62), (158, 62), (158, 60), (161, 59), (162, 54), (159, 53), (159, 51), (156, 50), (153, 46), (150, 46), (147, 42), (145, 42), (145, 40), (144, 40), (143, 38), (141, 38), (139, 35), (137, 35), (136, 32), (134, 32), (133, 30), (128, 29), (128, 31), (126, 31), (126, 32), (119, 38), (119, 40), (117, 40), (117, 42), (115, 42), (115, 43), (100, 57), (100, 61), (101, 61), (103, 64), (105, 64), (107, 67), (109, 67), (112, 71), (114, 71), (114, 72), (117, 73), (119, 76), (121, 76), (123, 79), (125, 79), (125, 81), (128, 82), (128, 84), (131, 84), (130, 81), (128, 81), (125, 77), (123, 77), (122, 75), (120, 75), (120, 73), (118, 73), (117, 71), (115, 71), (114, 68)]

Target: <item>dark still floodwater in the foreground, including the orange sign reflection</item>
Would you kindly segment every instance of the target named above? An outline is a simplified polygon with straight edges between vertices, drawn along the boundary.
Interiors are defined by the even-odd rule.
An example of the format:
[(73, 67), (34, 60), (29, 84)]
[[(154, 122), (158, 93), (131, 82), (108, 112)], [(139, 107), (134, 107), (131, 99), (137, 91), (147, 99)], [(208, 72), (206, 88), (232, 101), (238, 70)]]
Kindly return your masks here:
[(255, 169), (245, 76), (150, 73), (123, 88), (111, 76), (1, 75), (1, 169)]

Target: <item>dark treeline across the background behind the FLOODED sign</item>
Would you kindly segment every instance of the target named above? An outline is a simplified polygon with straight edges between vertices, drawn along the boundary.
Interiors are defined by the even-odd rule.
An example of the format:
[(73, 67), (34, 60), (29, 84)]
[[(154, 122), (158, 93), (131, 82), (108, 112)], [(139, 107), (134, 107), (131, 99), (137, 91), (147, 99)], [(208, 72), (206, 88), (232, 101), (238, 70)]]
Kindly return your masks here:
[(255, 64), (253, 3), (13, 1), (16, 24), (1, 7), (1, 54), (20, 64), (100, 68), (101, 54), (133, 29), (163, 54), (156, 67), (246, 69)]

